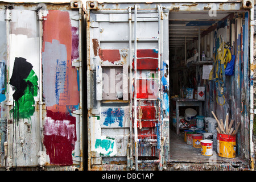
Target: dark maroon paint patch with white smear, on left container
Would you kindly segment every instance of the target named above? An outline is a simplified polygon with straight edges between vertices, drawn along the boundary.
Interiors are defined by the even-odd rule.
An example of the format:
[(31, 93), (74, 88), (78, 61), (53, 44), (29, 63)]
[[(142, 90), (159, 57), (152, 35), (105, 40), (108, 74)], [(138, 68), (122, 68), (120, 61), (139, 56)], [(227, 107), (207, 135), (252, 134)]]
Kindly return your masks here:
[[(58, 127), (55, 127), (55, 131), (51, 131), (53, 125), (50, 125), (50, 122), (46, 122), (44, 125), (43, 143), (46, 147), (47, 155), (49, 155), (50, 163), (60, 166), (72, 165), (72, 151), (75, 150), (75, 142), (77, 139), (76, 118), (69, 115), (69, 113), (56, 113), (51, 110), (47, 110), (47, 117), (54, 120), (55, 124), (53, 125), (58, 125)], [(69, 121), (68, 126), (73, 125), (75, 135), (69, 133), (70, 130), (68, 130), (67, 125), (57, 121)]]

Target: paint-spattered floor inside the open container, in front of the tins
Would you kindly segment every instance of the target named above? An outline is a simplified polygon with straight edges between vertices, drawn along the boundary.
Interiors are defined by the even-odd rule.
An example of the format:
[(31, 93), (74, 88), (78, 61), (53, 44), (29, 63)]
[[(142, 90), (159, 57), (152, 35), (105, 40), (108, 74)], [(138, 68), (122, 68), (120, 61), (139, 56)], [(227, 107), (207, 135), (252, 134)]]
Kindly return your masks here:
[(213, 156), (201, 155), (201, 148), (194, 148), (184, 141), (184, 133), (177, 135), (170, 131), (170, 162), (191, 162), (191, 163), (244, 163), (237, 156), (236, 158), (221, 158), (217, 155), (217, 148), (213, 148)]

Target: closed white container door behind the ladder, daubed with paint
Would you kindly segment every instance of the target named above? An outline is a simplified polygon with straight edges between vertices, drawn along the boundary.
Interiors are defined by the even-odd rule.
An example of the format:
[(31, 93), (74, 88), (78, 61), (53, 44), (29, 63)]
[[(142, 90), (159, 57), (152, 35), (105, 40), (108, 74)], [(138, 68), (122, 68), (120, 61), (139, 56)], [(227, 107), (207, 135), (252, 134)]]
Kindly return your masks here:
[[(137, 163), (134, 160), (134, 5), (125, 6), (124, 9), (112, 10), (87, 2), (89, 169), (131, 169)], [(141, 59), (137, 65), (137, 77), (140, 79), (136, 88), (144, 114), (141, 127), (139, 123), (135, 127), (138, 127), (138, 139), (154, 142), (139, 144), (138, 156), (152, 159), (158, 156), (158, 122), (155, 116), (159, 110), (156, 100), (162, 98), (161, 142), (164, 146), (163, 161), (166, 161), (169, 156), (168, 13), (162, 17), (164, 49), (160, 68), (160, 49), (154, 39), (158, 37), (157, 7), (152, 5), (152, 10), (141, 15), (144, 17), (138, 19), (137, 35), (147, 39), (138, 42), (137, 57)], [(163, 77), (158, 77), (158, 69)], [(163, 91), (160, 85), (158, 87), (160, 82), (154, 82), (158, 78), (166, 90)]]

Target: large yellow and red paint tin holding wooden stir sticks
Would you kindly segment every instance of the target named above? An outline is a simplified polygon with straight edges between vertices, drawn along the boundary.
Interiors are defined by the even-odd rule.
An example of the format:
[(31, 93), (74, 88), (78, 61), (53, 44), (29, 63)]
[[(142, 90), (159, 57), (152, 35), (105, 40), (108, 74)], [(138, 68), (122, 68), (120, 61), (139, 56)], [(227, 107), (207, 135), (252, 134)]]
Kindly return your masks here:
[(236, 135), (217, 134), (217, 153), (222, 158), (236, 157)]

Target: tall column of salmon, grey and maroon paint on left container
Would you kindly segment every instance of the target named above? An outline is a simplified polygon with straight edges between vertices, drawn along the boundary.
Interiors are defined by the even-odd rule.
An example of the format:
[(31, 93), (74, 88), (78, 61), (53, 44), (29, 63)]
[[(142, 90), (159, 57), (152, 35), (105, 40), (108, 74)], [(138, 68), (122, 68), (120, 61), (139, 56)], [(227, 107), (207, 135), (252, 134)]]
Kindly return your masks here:
[(72, 61), (79, 58), (79, 29), (69, 12), (49, 11), (43, 23), (43, 75), (46, 118), (44, 145), (51, 164), (72, 165), (77, 140), (79, 75)]

